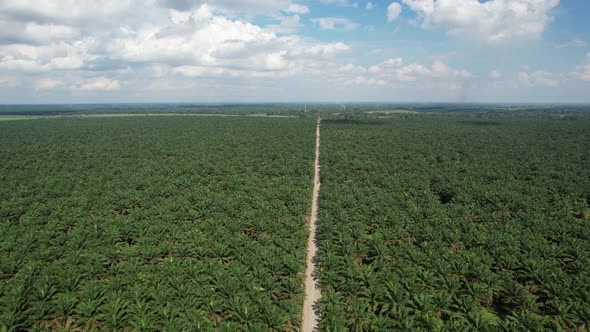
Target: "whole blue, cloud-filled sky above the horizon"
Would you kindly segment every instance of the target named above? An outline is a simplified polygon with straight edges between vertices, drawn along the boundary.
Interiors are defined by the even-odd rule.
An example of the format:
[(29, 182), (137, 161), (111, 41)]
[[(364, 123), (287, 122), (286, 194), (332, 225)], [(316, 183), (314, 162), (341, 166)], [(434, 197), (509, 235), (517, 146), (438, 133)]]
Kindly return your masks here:
[(588, 0), (0, 0), (0, 104), (590, 102)]

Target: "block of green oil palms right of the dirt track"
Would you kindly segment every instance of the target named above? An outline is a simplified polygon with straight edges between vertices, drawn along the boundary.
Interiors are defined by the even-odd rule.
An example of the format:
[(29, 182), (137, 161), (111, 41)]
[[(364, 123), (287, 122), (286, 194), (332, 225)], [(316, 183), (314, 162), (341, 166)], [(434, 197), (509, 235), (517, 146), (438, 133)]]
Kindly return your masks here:
[(324, 120), (322, 329), (588, 330), (590, 121), (566, 119)]

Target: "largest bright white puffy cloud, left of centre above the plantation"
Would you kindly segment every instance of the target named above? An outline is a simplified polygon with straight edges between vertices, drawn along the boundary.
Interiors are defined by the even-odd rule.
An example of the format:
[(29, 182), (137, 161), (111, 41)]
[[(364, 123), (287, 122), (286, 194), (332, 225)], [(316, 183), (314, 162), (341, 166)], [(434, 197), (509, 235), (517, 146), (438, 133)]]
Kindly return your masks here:
[[(310, 43), (297, 36), (279, 37), (299, 25), (299, 17), (264, 29), (216, 15), (203, 5), (172, 26), (151, 27), (121, 36), (109, 46), (111, 57), (133, 63), (181, 64), (174, 72), (197, 76), (261, 76), (257, 72), (295, 70), (301, 62), (319, 60), (349, 47), (343, 43)], [(234, 75), (235, 76), (235, 75)]]

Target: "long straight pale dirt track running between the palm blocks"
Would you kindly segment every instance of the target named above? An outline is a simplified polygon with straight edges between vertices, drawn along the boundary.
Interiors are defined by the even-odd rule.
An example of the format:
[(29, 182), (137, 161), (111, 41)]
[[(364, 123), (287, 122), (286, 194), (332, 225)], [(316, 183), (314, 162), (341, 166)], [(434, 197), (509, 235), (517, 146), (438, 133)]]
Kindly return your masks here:
[(320, 122), (316, 127), (315, 163), (313, 175), (313, 197), (311, 199), (311, 216), (309, 218), (309, 239), (307, 240), (307, 268), (305, 271), (305, 301), (303, 302), (302, 332), (319, 331), (321, 297), (320, 281), (317, 271), (317, 238), (318, 199), (320, 196)]

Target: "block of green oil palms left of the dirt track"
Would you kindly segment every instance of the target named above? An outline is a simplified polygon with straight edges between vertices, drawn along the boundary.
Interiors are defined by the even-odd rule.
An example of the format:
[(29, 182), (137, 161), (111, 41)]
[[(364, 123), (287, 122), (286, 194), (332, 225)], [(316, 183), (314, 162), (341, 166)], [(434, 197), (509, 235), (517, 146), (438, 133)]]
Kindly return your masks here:
[(0, 326), (299, 325), (315, 122), (0, 123)]

